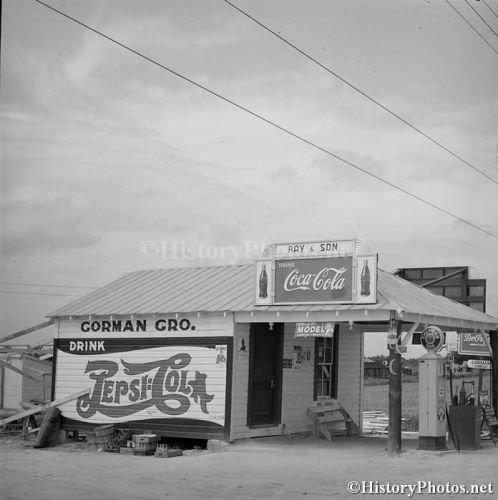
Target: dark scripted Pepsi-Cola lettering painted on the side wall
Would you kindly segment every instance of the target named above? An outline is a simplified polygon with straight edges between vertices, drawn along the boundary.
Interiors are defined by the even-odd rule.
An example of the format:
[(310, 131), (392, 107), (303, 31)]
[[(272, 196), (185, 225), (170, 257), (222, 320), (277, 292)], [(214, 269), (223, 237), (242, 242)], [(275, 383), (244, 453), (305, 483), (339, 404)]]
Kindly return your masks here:
[[(155, 407), (169, 416), (184, 415), (191, 404), (198, 404), (209, 414), (208, 403), (214, 395), (206, 391), (207, 375), (188, 367), (188, 353), (148, 363), (120, 360), (89, 361), (85, 373), (94, 382), (89, 395), (80, 396), (76, 403), (78, 415), (88, 419), (97, 412), (108, 417), (127, 417), (146, 408)], [(116, 377), (123, 368), (126, 377)]]

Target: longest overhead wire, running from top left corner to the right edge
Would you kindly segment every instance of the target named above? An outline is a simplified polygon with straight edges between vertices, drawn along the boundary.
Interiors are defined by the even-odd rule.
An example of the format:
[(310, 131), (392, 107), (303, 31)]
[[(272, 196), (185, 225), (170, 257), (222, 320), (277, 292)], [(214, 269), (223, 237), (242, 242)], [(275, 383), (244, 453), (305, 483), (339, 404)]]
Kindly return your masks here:
[(451, 218), (453, 218), (453, 219), (456, 219), (456, 220), (458, 220), (458, 221), (460, 221), (460, 222), (463, 222), (464, 224), (467, 224), (468, 226), (471, 226), (471, 227), (473, 227), (474, 229), (477, 229), (478, 231), (481, 231), (481, 232), (483, 232), (483, 233), (486, 233), (486, 234), (487, 234), (487, 235), (489, 235), (489, 236), (492, 236), (493, 238), (498, 239), (498, 235), (496, 235), (496, 234), (494, 234), (494, 233), (492, 233), (492, 232), (488, 231), (487, 229), (484, 229), (484, 228), (482, 228), (482, 227), (480, 227), (480, 226), (478, 226), (478, 225), (474, 224), (473, 222), (470, 222), (470, 221), (468, 221), (468, 220), (466, 220), (466, 219), (463, 219), (463, 218), (459, 217), (458, 215), (455, 215), (455, 214), (453, 214), (453, 213), (451, 213), (451, 212), (448, 212), (448, 211), (447, 211), (447, 210), (445, 210), (444, 208), (441, 208), (441, 207), (439, 207), (438, 205), (435, 205), (434, 203), (432, 203), (432, 202), (430, 202), (430, 201), (428, 201), (428, 200), (425, 200), (424, 198), (421, 198), (420, 196), (418, 196), (418, 195), (416, 195), (416, 194), (413, 194), (413, 193), (411, 193), (410, 191), (407, 191), (406, 189), (404, 189), (404, 188), (402, 188), (402, 187), (400, 187), (400, 186), (398, 186), (398, 185), (396, 185), (396, 184), (394, 184), (394, 183), (392, 183), (392, 182), (390, 182), (390, 181), (388, 181), (388, 180), (386, 180), (386, 179), (384, 179), (384, 178), (382, 178), (382, 177), (380, 177), (380, 176), (378, 176), (378, 175), (376, 175), (376, 174), (374, 174), (374, 173), (372, 173), (372, 172), (370, 172), (370, 171), (368, 171), (368, 170), (365, 170), (364, 168), (362, 168), (362, 167), (360, 167), (360, 166), (356, 165), (355, 163), (352, 163), (352, 162), (350, 162), (349, 160), (346, 160), (346, 159), (342, 158), (341, 156), (339, 156), (339, 155), (337, 155), (337, 154), (335, 154), (335, 153), (332, 153), (332, 152), (331, 152), (331, 151), (329, 151), (328, 149), (325, 149), (325, 148), (323, 148), (323, 147), (321, 147), (321, 146), (318, 146), (317, 144), (315, 144), (315, 143), (314, 143), (314, 142), (312, 142), (311, 140), (306, 139), (306, 138), (304, 138), (304, 137), (302, 137), (302, 136), (300, 136), (300, 135), (296, 134), (295, 132), (292, 132), (292, 131), (291, 131), (291, 130), (289, 130), (289, 129), (286, 129), (285, 127), (283, 127), (283, 126), (281, 126), (281, 125), (278, 125), (278, 124), (277, 124), (277, 123), (275, 123), (275, 122), (272, 122), (272, 121), (271, 121), (271, 120), (269, 120), (268, 118), (265, 118), (264, 116), (259, 115), (258, 113), (254, 112), (254, 111), (251, 111), (251, 110), (250, 110), (250, 109), (248, 109), (248, 108), (245, 108), (245, 107), (244, 107), (244, 106), (242, 106), (241, 104), (237, 104), (236, 102), (234, 102), (234, 101), (232, 101), (232, 100), (228, 99), (227, 97), (224, 97), (224, 96), (222, 96), (221, 94), (218, 94), (218, 93), (217, 93), (217, 92), (215, 92), (214, 90), (211, 90), (211, 89), (209, 89), (209, 88), (207, 88), (207, 87), (205, 87), (205, 86), (201, 85), (200, 83), (197, 83), (196, 81), (194, 81), (194, 80), (192, 80), (192, 79), (190, 79), (190, 78), (188, 78), (188, 77), (186, 77), (186, 76), (184, 76), (184, 75), (182, 75), (182, 74), (180, 74), (180, 73), (178, 73), (178, 72), (174, 71), (174, 70), (173, 70), (173, 69), (171, 69), (171, 68), (168, 68), (167, 66), (164, 66), (163, 64), (161, 64), (161, 63), (159, 63), (159, 62), (155, 61), (154, 59), (151, 59), (150, 57), (148, 57), (148, 56), (146, 56), (146, 55), (142, 54), (141, 52), (138, 52), (138, 51), (136, 51), (135, 49), (132, 49), (131, 47), (128, 47), (127, 45), (124, 45), (124, 44), (123, 44), (123, 43), (121, 43), (121, 42), (118, 42), (118, 41), (117, 41), (117, 40), (115, 40), (114, 38), (111, 38), (110, 36), (108, 36), (108, 35), (106, 35), (106, 34), (104, 34), (104, 33), (100, 32), (100, 31), (98, 31), (98, 30), (96, 30), (96, 29), (94, 29), (94, 28), (92, 28), (92, 27), (90, 27), (90, 26), (88, 26), (88, 25), (84, 24), (83, 22), (78, 21), (77, 19), (75, 19), (75, 18), (73, 18), (73, 17), (69, 16), (68, 14), (65, 14), (64, 12), (61, 12), (60, 10), (57, 10), (55, 7), (52, 7), (51, 5), (48, 5), (48, 4), (44, 3), (44, 2), (42, 2), (41, 0), (35, 0), (35, 1), (36, 1), (37, 3), (39, 3), (39, 4), (41, 4), (41, 5), (43, 5), (43, 6), (47, 7), (47, 8), (49, 8), (50, 10), (52, 10), (52, 11), (56, 12), (57, 14), (60, 14), (61, 16), (65, 17), (66, 19), (69, 19), (70, 21), (73, 21), (74, 23), (79, 24), (80, 26), (83, 26), (84, 28), (86, 28), (86, 29), (88, 29), (88, 30), (92, 31), (93, 33), (96, 33), (97, 35), (102, 36), (102, 37), (103, 37), (103, 38), (105, 38), (106, 40), (109, 40), (110, 42), (112, 42), (112, 43), (114, 43), (114, 44), (118, 45), (119, 47), (122, 47), (123, 49), (125, 49), (125, 50), (127, 50), (127, 51), (131, 52), (132, 54), (135, 54), (135, 55), (137, 55), (137, 56), (141, 57), (142, 59), (145, 59), (146, 61), (148, 61), (148, 62), (150, 62), (150, 63), (154, 64), (155, 66), (158, 66), (159, 68), (162, 68), (162, 69), (164, 69), (165, 71), (168, 71), (168, 72), (169, 72), (169, 73), (171, 73), (172, 75), (175, 75), (175, 76), (177, 76), (178, 78), (181, 78), (182, 80), (185, 80), (186, 82), (189, 82), (189, 83), (191, 83), (192, 85), (195, 85), (196, 87), (198, 87), (198, 88), (200, 88), (200, 89), (204, 90), (204, 91), (205, 91), (205, 92), (207, 92), (208, 94), (211, 94), (211, 95), (213, 95), (213, 96), (217, 97), (218, 99), (221, 99), (222, 101), (225, 101), (225, 102), (227, 102), (228, 104), (231, 104), (232, 106), (234, 106), (234, 107), (236, 107), (236, 108), (238, 108), (238, 109), (240, 109), (240, 110), (242, 110), (242, 111), (244, 111), (244, 112), (246, 112), (246, 113), (248, 113), (248, 114), (250, 114), (250, 115), (254, 116), (255, 118), (258, 118), (259, 120), (264, 121), (265, 123), (268, 123), (269, 125), (271, 125), (271, 126), (273, 126), (273, 127), (277, 128), (277, 129), (281, 130), (282, 132), (285, 132), (286, 134), (288, 134), (288, 135), (290, 135), (290, 136), (292, 136), (292, 137), (294, 137), (294, 138), (296, 138), (296, 139), (300, 140), (301, 142), (304, 142), (305, 144), (308, 144), (309, 146), (311, 146), (311, 147), (313, 147), (313, 148), (315, 148), (315, 149), (317, 149), (317, 150), (321, 151), (322, 153), (325, 153), (325, 154), (327, 154), (327, 155), (329, 155), (329, 156), (331, 156), (331, 157), (333, 157), (333, 158), (336, 158), (337, 160), (339, 160), (339, 161), (341, 161), (341, 162), (345, 163), (346, 165), (349, 165), (350, 167), (353, 167), (354, 169), (356, 169), (356, 170), (358, 170), (358, 171), (360, 171), (360, 172), (363, 172), (364, 174), (369, 175), (370, 177), (373, 177), (374, 179), (377, 179), (378, 181), (382, 182), (383, 184), (386, 184), (387, 186), (390, 186), (390, 187), (392, 187), (393, 189), (396, 189), (397, 191), (399, 191), (399, 192), (401, 192), (401, 193), (403, 193), (403, 194), (406, 194), (407, 196), (410, 196), (411, 198), (413, 198), (413, 199), (415, 199), (415, 200), (418, 200), (418, 201), (420, 201), (421, 203), (424, 203), (425, 205), (428, 205), (429, 207), (432, 207), (432, 208), (434, 208), (435, 210), (438, 210), (439, 212), (444, 213), (444, 214), (448, 215), (449, 217), (451, 217)]

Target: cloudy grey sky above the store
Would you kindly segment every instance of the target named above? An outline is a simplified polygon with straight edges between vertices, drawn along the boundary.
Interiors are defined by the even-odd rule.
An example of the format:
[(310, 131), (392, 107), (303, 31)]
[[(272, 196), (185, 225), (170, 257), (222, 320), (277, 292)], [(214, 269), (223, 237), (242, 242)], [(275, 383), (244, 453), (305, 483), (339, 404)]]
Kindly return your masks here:
[[(498, 235), (497, 184), (223, 0), (47, 3)], [(447, 3), (234, 3), (498, 180), (498, 54)], [(453, 4), (498, 50), (470, 7)], [(472, 4), (498, 31), (498, 1)], [(498, 316), (497, 238), (34, 0), (5, 0), (2, 14), (2, 336), (137, 269), (248, 262), (275, 242), (355, 236), (388, 271), (472, 266)], [(372, 339), (366, 354), (385, 352)]]

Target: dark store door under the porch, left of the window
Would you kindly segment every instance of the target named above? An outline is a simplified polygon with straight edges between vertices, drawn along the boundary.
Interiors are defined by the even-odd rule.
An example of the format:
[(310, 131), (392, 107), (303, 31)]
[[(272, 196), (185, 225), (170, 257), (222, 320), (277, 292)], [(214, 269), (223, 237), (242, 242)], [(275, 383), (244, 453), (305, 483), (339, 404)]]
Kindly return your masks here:
[(278, 425), (282, 406), (283, 324), (251, 325), (249, 341), (249, 427)]

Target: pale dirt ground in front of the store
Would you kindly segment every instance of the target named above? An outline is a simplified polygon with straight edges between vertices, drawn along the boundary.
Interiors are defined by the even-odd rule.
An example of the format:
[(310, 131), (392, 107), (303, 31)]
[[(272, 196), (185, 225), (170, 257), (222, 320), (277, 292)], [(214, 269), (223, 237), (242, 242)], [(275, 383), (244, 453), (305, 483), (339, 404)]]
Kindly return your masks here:
[[(35, 450), (19, 438), (0, 441), (0, 498), (3, 500), (148, 500), (365, 497), (348, 493), (350, 481), (436, 485), (496, 483), (498, 447), (483, 442), (476, 451), (417, 451), (403, 442), (396, 458), (382, 438), (338, 437), (333, 442), (305, 436), (244, 440), (215, 453), (191, 451), (176, 458), (99, 452), (67, 443)], [(423, 483), (421, 487), (423, 486)], [(402, 498), (405, 494), (373, 495)], [(414, 498), (498, 498), (498, 493), (435, 494)]]

